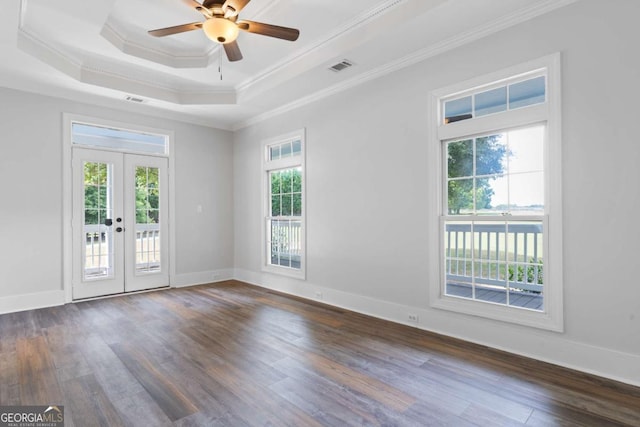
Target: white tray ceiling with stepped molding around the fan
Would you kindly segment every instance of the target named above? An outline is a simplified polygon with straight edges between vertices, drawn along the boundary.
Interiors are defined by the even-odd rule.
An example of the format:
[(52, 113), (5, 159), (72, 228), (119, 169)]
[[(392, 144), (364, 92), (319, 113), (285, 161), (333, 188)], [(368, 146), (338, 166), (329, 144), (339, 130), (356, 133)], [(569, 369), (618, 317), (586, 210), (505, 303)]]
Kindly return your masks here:
[(252, 0), (241, 19), (300, 38), (241, 32), (230, 63), (201, 30), (147, 34), (203, 21), (190, 0), (2, 0), (0, 85), (238, 129), (573, 1)]

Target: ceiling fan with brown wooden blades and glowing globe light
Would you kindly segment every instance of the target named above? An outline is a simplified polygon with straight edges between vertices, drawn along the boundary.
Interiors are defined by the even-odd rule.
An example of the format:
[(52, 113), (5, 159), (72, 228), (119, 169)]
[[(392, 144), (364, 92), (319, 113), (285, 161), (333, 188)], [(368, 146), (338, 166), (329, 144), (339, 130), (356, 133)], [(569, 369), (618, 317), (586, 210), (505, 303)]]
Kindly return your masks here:
[(289, 41), (296, 41), (300, 35), (300, 31), (295, 28), (238, 20), (238, 14), (251, 0), (204, 0), (202, 4), (195, 0), (182, 1), (204, 15), (206, 20), (204, 22), (176, 25), (175, 27), (159, 28), (149, 31), (149, 34), (155, 37), (164, 37), (202, 29), (207, 37), (222, 44), (229, 61), (242, 59), (242, 53), (236, 41), (239, 30)]

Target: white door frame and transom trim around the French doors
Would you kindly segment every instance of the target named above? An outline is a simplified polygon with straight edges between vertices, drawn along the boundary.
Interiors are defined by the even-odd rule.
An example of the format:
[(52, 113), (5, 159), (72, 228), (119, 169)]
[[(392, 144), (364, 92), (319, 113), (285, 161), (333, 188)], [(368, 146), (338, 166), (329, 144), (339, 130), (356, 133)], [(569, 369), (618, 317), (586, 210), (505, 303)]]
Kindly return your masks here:
[[(113, 127), (118, 129), (130, 130), (134, 132), (148, 132), (160, 135), (166, 135), (169, 144), (168, 156), (165, 157), (169, 160), (168, 176), (169, 176), (169, 189), (168, 189), (168, 204), (169, 204), (169, 217), (167, 226), (169, 228), (169, 286), (174, 287), (174, 278), (176, 276), (176, 268), (174, 262), (174, 254), (176, 253), (176, 232), (175, 232), (175, 156), (174, 156), (174, 131), (160, 128), (153, 128), (149, 126), (132, 124), (126, 122), (119, 122), (108, 119), (101, 119), (91, 116), (83, 116), (79, 114), (63, 113), (62, 114), (62, 286), (64, 291), (65, 303), (74, 302), (73, 300), (73, 142), (71, 140), (71, 125), (72, 123), (84, 123), (95, 126)], [(87, 148), (86, 146), (79, 146)], [(91, 147), (89, 147), (91, 148)], [(99, 148), (101, 151), (110, 151)], [(124, 152), (129, 154), (144, 154), (131, 151), (113, 150), (117, 152)], [(148, 154), (145, 154), (148, 155)], [(151, 155), (154, 156), (154, 155)]]

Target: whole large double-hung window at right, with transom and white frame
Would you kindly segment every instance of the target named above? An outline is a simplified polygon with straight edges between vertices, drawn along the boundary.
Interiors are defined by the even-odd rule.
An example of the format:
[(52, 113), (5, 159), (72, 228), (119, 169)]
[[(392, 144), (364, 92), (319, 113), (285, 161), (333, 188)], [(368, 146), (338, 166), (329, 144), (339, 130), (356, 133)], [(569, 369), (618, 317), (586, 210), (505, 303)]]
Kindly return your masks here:
[(557, 80), (552, 56), (432, 94), (433, 306), (561, 330)]

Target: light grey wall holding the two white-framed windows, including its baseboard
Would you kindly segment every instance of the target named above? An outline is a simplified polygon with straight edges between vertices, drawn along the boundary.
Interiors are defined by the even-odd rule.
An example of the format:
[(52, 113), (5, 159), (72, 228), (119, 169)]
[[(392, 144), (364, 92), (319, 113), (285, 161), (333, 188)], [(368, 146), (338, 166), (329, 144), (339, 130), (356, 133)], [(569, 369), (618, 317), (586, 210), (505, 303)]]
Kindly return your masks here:
[[(236, 277), (640, 385), (640, 3), (581, 0), (235, 134)], [(565, 332), (429, 308), (431, 90), (553, 52), (563, 67)], [(357, 58), (352, 58), (357, 63)], [(261, 273), (260, 142), (307, 129), (307, 280)]]

